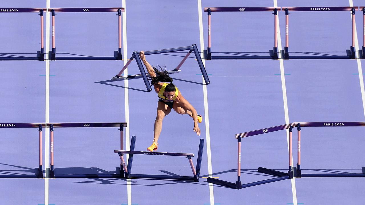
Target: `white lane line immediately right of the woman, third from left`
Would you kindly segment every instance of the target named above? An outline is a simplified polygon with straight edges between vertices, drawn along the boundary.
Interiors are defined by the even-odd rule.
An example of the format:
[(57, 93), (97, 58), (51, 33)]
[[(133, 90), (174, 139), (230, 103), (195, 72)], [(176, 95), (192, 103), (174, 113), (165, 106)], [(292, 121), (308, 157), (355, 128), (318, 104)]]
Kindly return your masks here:
[[(200, 33), (200, 52), (204, 51), (204, 37), (203, 37), (203, 15), (201, 13), (201, 0), (198, 0), (198, 13), (199, 13), (199, 33)], [(205, 67), (205, 60), (201, 58), (203, 65)], [(205, 120), (205, 132), (206, 132), (206, 144), (207, 144), (207, 158), (208, 158), (208, 175), (212, 177), (212, 158), (210, 151), (210, 132), (209, 132), (209, 115), (208, 115), (208, 94), (207, 85), (205, 85), (204, 77), (203, 80), (203, 95), (204, 95), (204, 120)], [(213, 194), (213, 184), (209, 183), (209, 195), (210, 204), (214, 205), (214, 194)]]

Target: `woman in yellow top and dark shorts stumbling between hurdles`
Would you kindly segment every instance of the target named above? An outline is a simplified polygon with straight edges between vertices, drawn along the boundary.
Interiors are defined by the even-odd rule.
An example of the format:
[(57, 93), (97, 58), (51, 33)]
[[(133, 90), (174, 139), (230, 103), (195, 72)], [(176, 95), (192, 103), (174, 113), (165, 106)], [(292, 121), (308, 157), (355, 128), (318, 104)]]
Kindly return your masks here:
[[(162, 129), (162, 120), (168, 115), (171, 109), (181, 115), (188, 114), (194, 120), (193, 131), (200, 136), (200, 128), (198, 122), (203, 121), (203, 117), (197, 115), (195, 108), (183, 97), (180, 90), (172, 84), (172, 78), (166, 70), (158, 70), (156, 67), (152, 67), (146, 60), (144, 51), (139, 54), (143, 64), (145, 64), (148, 73), (151, 77), (151, 85), (154, 86), (156, 93), (158, 93), (157, 102), (157, 116), (153, 131), (153, 143), (147, 148), (148, 151), (152, 152), (157, 150), (158, 138), (160, 137)], [(166, 83), (170, 82), (170, 83)]]

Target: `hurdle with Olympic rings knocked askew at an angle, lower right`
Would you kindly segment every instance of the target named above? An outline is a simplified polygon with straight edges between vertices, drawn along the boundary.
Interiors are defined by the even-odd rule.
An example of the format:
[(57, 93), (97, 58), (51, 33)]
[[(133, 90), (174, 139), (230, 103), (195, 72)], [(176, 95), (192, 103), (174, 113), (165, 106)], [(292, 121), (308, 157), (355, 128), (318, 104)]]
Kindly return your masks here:
[[(273, 175), (273, 176), (276, 176), (276, 178), (265, 179), (265, 180), (262, 180), (262, 181), (242, 184), (242, 182), (241, 182), (241, 139), (245, 138), (245, 137), (248, 137), (248, 136), (261, 135), (261, 134), (274, 132), (274, 131), (279, 131), (279, 130), (283, 130), (283, 129), (289, 129), (289, 170), (288, 170), (288, 173), (281, 172), (281, 171), (276, 171), (276, 170), (272, 170), (272, 169), (267, 169), (267, 168), (263, 168), (263, 167), (258, 167), (258, 169), (257, 169), (258, 172), (268, 174), (268, 175)], [(293, 178), (293, 171), (292, 171), (292, 129), (293, 129), (292, 124), (285, 124), (285, 125), (279, 125), (279, 126), (276, 126), (276, 127), (258, 129), (258, 130), (255, 130), (255, 131), (236, 134), (235, 138), (237, 139), (237, 142), (238, 142), (238, 148), (237, 148), (237, 181), (236, 181), (236, 183), (223, 181), (223, 180), (215, 179), (215, 178), (211, 178), (211, 177), (208, 177), (207, 182), (218, 184), (218, 185), (225, 186), (225, 187), (230, 187), (230, 188), (233, 188), (233, 189), (242, 189), (242, 188), (246, 188), (246, 187), (250, 187), (250, 186), (256, 186), (256, 185), (275, 182), (275, 181), (281, 181), (281, 180), (284, 180), (284, 179), (292, 179)]]

